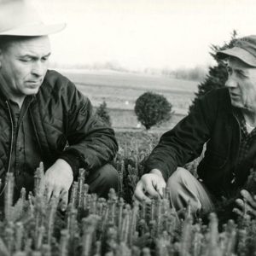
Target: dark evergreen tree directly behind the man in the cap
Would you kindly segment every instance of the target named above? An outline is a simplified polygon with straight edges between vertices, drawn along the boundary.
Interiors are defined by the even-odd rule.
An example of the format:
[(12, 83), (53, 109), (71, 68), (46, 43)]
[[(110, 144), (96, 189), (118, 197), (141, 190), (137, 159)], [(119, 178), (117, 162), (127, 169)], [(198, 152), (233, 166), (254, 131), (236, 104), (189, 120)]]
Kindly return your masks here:
[(210, 55), (212, 55), (212, 58), (217, 61), (217, 66), (209, 67), (206, 79), (198, 85), (198, 91), (195, 93), (195, 99), (193, 100), (192, 105), (189, 106), (189, 112), (194, 108), (195, 103), (201, 96), (204, 96), (212, 89), (224, 87), (224, 84), (228, 79), (228, 73), (226, 71), (224, 61), (218, 59), (217, 52), (218, 50), (231, 48), (236, 41), (236, 35), (236, 30), (234, 30), (229, 43), (224, 43), (223, 46), (211, 46), (212, 52), (210, 52)]

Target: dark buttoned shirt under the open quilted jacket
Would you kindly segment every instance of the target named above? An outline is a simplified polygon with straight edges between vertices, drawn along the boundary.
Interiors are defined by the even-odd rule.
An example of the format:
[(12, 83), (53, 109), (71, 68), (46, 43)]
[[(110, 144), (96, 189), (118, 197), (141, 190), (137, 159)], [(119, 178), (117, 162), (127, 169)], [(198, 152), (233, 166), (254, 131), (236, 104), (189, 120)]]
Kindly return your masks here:
[(33, 189), (33, 173), (42, 161), (28, 109), (31, 103), (32, 96), (26, 96), (21, 108), (16, 102), (9, 101), (14, 125), (14, 143), (9, 172), (15, 174), (15, 194), (17, 195), (20, 194), (22, 187)]

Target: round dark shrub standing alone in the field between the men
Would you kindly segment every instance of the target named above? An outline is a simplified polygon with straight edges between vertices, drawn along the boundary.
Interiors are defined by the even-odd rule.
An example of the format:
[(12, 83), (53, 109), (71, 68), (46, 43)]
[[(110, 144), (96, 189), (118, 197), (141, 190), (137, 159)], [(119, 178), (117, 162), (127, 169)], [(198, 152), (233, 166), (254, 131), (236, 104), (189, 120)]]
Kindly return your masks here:
[(154, 125), (160, 125), (172, 116), (172, 104), (166, 100), (166, 97), (150, 91), (137, 98), (134, 110), (137, 119), (147, 130)]

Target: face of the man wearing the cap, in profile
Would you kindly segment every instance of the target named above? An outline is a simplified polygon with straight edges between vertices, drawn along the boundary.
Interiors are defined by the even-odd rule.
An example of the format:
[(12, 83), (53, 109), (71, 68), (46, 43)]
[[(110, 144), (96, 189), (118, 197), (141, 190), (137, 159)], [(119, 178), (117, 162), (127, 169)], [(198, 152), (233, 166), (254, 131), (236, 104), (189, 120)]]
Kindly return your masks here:
[(248, 67), (237, 58), (227, 61), (229, 78), (226, 86), (230, 90), (234, 107), (256, 112), (256, 68)]

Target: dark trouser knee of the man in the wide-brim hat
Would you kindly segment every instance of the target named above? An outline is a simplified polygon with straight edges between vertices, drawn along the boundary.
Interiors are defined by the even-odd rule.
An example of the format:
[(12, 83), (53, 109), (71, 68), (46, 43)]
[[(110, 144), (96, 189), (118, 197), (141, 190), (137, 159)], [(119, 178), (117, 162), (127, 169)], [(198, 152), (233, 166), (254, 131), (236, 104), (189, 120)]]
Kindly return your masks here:
[(118, 192), (119, 175), (111, 165), (105, 165), (89, 174), (85, 179), (89, 185), (89, 192), (96, 193), (99, 197), (108, 199), (109, 189), (113, 188)]

